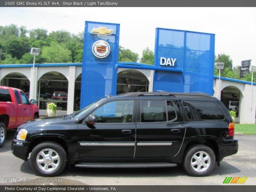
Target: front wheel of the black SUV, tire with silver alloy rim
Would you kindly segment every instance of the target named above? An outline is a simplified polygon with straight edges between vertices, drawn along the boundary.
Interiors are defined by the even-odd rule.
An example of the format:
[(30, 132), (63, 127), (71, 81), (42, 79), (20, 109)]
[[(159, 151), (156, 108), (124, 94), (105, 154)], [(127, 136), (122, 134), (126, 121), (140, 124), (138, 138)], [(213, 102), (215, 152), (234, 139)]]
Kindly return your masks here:
[[(49, 155), (49, 150), (47, 149), (51, 149), (53, 151), (52, 155)], [(42, 155), (39, 154), (43, 150), (45, 150), (43, 152), (44, 155), (46, 156), (45, 158), (48, 158), (46, 160), (45, 158), (43, 158)], [(53, 157), (56, 157), (56, 155), (59, 156), (58, 160), (51, 159)], [(44, 162), (48, 162), (49, 164), (47, 165), (44, 162), (42, 162), (41, 164), (38, 165), (37, 164), (38, 159)], [(30, 161), (31, 168), (37, 175), (45, 176), (45, 177), (53, 177), (53, 176), (59, 175), (65, 169), (67, 164), (67, 153), (59, 143), (52, 142), (52, 141), (45, 141), (38, 144), (32, 150), (29, 161)], [(58, 164), (58, 165), (56, 166), (56, 168), (54, 168), (52, 164), (55, 164), (55, 165)], [(44, 166), (47, 167), (48, 171), (45, 171), (45, 169), (43, 168)], [(51, 171), (50, 169), (53, 169), (53, 170)]]

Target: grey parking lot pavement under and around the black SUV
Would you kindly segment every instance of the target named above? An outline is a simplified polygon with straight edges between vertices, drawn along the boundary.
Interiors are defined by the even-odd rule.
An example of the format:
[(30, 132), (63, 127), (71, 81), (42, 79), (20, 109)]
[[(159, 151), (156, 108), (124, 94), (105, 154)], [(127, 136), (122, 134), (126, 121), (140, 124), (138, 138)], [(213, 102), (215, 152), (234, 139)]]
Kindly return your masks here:
[[(10, 184), (42, 184), (49, 178), (38, 177), (30, 168), (29, 161), (12, 155), (11, 140), (15, 131), (8, 131), (7, 140), (0, 148), (0, 185)], [(256, 136), (235, 135), (238, 139), (238, 153), (228, 156), (220, 162), (220, 167), (215, 166), (212, 173), (206, 177), (191, 177), (182, 166), (173, 168), (144, 168), (144, 169), (66, 169), (58, 177), (62, 183), (54, 185), (221, 185), (226, 177), (248, 177), (244, 184), (256, 183)], [(39, 183), (10, 183), (5, 178), (33, 179), (30, 182)], [(39, 179), (39, 180), (36, 180)], [(15, 179), (14, 179), (15, 180)], [(55, 182), (55, 180), (53, 180)], [(227, 185), (227, 184), (226, 184)]]

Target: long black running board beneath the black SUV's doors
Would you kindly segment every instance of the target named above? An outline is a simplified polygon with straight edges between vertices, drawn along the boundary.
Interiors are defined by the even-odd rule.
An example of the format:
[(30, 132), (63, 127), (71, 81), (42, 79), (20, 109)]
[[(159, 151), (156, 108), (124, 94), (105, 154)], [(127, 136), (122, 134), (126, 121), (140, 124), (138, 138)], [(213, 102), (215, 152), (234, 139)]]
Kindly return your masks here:
[(176, 167), (176, 163), (78, 163), (75, 167), (85, 168), (148, 168), (148, 167)]

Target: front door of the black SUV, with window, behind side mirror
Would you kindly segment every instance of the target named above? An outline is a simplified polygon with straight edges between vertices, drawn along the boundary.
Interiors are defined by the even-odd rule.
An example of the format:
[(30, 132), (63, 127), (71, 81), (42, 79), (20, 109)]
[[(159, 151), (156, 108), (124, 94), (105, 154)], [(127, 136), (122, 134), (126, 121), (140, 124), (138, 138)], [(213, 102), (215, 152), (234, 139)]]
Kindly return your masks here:
[(78, 125), (78, 150), (82, 159), (133, 158), (135, 114), (133, 100), (112, 100), (95, 109), (94, 125)]

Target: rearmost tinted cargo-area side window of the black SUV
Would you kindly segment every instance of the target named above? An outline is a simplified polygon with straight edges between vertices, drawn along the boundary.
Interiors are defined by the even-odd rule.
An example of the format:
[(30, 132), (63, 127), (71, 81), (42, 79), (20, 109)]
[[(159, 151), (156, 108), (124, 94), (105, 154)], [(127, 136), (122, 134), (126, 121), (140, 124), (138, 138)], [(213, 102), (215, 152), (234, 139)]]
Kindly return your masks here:
[(183, 101), (183, 106), (191, 120), (224, 119), (217, 105), (210, 101)]

